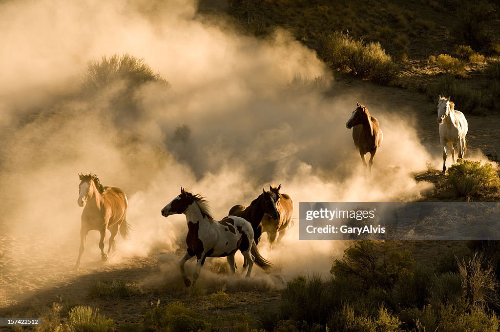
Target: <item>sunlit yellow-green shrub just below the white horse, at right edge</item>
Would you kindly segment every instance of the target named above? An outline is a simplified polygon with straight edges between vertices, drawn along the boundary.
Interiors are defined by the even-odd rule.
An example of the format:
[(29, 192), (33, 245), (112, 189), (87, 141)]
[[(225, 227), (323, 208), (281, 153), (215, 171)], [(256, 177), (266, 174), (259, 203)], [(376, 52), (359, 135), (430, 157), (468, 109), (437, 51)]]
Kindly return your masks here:
[(480, 161), (459, 159), (448, 168), (448, 174), (448, 182), (457, 197), (472, 197), (500, 184), (493, 166), (490, 163), (481, 164)]

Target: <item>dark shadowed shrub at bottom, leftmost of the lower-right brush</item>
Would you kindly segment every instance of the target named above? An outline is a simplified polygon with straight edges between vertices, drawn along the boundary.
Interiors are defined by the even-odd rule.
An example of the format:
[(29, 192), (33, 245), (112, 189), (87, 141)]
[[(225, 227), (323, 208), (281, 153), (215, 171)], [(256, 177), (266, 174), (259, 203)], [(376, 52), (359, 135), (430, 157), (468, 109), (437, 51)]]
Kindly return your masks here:
[(325, 323), (330, 310), (330, 297), (319, 275), (297, 276), (281, 291), (280, 311), (286, 319)]

